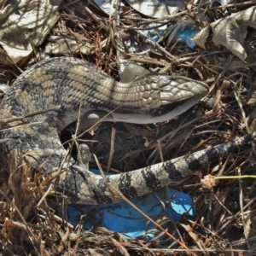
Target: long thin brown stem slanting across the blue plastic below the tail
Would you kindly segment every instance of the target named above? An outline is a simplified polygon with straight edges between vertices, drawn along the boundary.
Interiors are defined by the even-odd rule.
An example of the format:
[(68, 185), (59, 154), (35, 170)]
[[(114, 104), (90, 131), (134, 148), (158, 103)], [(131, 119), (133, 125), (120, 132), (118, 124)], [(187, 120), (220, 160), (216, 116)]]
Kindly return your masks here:
[(137, 212), (141, 213), (143, 215), (144, 218), (147, 218), (148, 221), (150, 221), (152, 224), (154, 224), (159, 230), (163, 231), (166, 236), (169, 236), (172, 240), (176, 241), (181, 247), (185, 248), (187, 253), (191, 253), (192, 255), (196, 256), (195, 253), (191, 252), (190, 249), (188, 247), (186, 247), (182, 242), (178, 241), (177, 238), (175, 238), (174, 236), (172, 236), (169, 232), (167, 232), (165, 229), (163, 229), (159, 224), (157, 224), (156, 222), (154, 222), (154, 220), (152, 218), (149, 218), (147, 214), (145, 214), (144, 212), (142, 212), (138, 207), (136, 207), (133, 203), (131, 203), (131, 201), (129, 201), (124, 195), (122, 195), (118, 189), (115, 189), (113, 186), (111, 186), (108, 183), (108, 188), (111, 188), (111, 190), (116, 194), (119, 195), (119, 197), (122, 199), (122, 201), (127, 202), (131, 207), (133, 207)]

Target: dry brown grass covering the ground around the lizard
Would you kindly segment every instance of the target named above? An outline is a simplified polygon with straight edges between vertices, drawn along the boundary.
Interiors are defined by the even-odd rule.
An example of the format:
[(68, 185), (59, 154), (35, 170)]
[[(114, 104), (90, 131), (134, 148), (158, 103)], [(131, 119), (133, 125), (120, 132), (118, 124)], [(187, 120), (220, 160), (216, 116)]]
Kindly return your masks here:
[[(216, 20), (249, 7), (250, 1), (240, 2), (224, 9), (206, 9), (208, 20)], [(158, 51), (148, 50), (142, 58), (142, 53), (128, 54), (125, 49), (120, 49), (119, 44), (131, 38), (134, 30), (144, 29), (153, 20), (127, 7), (120, 14), (121, 25), (117, 25), (116, 17), (109, 19), (101, 11), (89, 7), (84, 8), (89, 20), (80, 20), (71, 11), (70, 15), (61, 15), (51, 32), (75, 38), (78, 45), (92, 45), (90, 55), (82, 55), (79, 51), (74, 54), (67, 49), (68, 55), (83, 57), (119, 79), (119, 59), (116, 57), (119, 49), (119, 55), (143, 63), (144, 67), (159, 67), (160, 73), (172, 70), (172, 73), (207, 81), (213, 98), (212, 106), (200, 103), (166, 124), (102, 124), (93, 137), (85, 136), (85, 139), (97, 141), (88, 144), (102, 167), (113, 172), (127, 172), (227, 143), (232, 138), (255, 130), (256, 68), (250, 64), (255, 63), (250, 62), (255, 60), (255, 30), (248, 29), (246, 49), (250, 60), (247, 63), (236, 59), (229, 50), (214, 46), (210, 40), (207, 49), (192, 50), (180, 42), (167, 46), (166, 38), (162, 38), (155, 45)], [(77, 10), (83, 9), (78, 7)], [(194, 7), (189, 13), (181, 11), (171, 15), (168, 23), (176, 24), (185, 14), (204, 25)], [(165, 19), (157, 21), (166, 23)], [(114, 34), (119, 30), (122, 32), (119, 38), (115, 38)], [(138, 49), (143, 46), (143, 42), (137, 44)], [(44, 58), (44, 48), (35, 49), (34, 58), (36, 61)], [(12, 81), (13, 73), (19, 75), (15, 67), (0, 68), (5, 74), (5, 77), (1, 77), (4, 82)], [(253, 152), (250, 147), (241, 150), (239, 154), (230, 155), (219, 162), (219, 165), (215, 163), (209, 166), (204, 174), (253, 174)], [(58, 218), (45, 200), (38, 205), (45, 191), (43, 177), (37, 174), (31, 181), (28, 173), (29, 167), (17, 163), (15, 155), (9, 165), (2, 161), (0, 244), (3, 245), (4, 255), (252, 255), (253, 248), (255, 250), (256, 190), (253, 179), (218, 181), (212, 189), (202, 189), (196, 178), (195, 183), (191, 183), (193, 180), (190, 179), (186, 183), (174, 184), (176, 189), (195, 199), (196, 218), (184, 216), (182, 223), (177, 224), (179, 240), (189, 250), (183, 247), (173, 250), (160, 249), (159, 241), (126, 241), (119, 234), (103, 229), (80, 230), (75, 235), (74, 227)]]

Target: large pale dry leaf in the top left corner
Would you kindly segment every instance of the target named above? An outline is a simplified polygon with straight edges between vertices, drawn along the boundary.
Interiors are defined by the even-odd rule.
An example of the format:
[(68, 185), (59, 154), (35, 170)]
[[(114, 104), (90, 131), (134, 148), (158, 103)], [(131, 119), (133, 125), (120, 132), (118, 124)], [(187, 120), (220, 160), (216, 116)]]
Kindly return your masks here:
[[(8, 3), (4, 7), (12, 10), (7, 19), (1, 20), (0, 12), (0, 44), (14, 63), (30, 55), (33, 46), (43, 43), (59, 18), (57, 11), (60, 4), (61, 0), (20, 0), (18, 5)], [(2, 57), (0, 61), (10, 62)]]

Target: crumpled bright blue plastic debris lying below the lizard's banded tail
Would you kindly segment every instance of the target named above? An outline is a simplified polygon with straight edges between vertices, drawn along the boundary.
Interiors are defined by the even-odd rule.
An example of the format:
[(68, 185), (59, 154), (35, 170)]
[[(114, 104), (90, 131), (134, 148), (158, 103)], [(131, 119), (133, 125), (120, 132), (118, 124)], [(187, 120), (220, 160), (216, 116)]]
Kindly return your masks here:
[[(100, 174), (97, 170), (91, 170)], [(109, 173), (108, 173), (109, 174)], [(106, 173), (106, 175), (108, 175)], [(169, 192), (166, 193), (166, 192)], [(156, 193), (159, 199), (155, 196)], [(174, 222), (180, 221), (182, 215), (187, 213), (194, 216), (193, 200), (191, 196), (178, 192), (174, 189), (159, 189), (157, 192), (133, 198), (131, 202), (141, 211), (153, 218), (154, 221), (160, 216), (168, 216)], [(125, 201), (100, 206), (70, 205), (67, 209), (69, 222), (79, 224), (80, 216), (85, 214), (84, 229), (90, 230), (96, 227), (105, 227), (114, 232), (123, 233), (126, 236), (144, 236), (146, 240), (152, 239), (155, 234), (155, 226), (148, 222), (141, 213), (137, 212)], [(151, 230), (151, 231), (150, 231)]]

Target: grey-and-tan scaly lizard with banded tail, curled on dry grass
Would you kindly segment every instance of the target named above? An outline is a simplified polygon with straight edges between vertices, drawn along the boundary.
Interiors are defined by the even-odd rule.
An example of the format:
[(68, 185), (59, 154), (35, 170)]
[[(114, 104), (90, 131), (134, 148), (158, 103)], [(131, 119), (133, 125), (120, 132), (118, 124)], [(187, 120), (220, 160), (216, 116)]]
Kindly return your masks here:
[[(207, 84), (181, 76), (146, 73), (130, 82), (117, 82), (87, 61), (71, 57), (41, 61), (22, 73), (3, 97), (0, 119), (7, 120), (0, 131), (3, 153), (8, 159), (13, 150), (22, 152), (30, 166), (56, 177), (55, 189), (64, 191), (75, 203), (119, 201), (109, 191), (108, 183), (129, 199), (144, 195), (233, 152), (255, 134), (140, 170), (102, 177), (65, 157), (61, 130), (76, 121), (79, 113), (83, 123), (88, 120), (87, 126), (107, 113), (104, 121), (166, 121), (191, 108), (207, 93)], [(91, 115), (96, 119), (90, 119)], [(26, 118), (8, 122), (22, 116)]]

